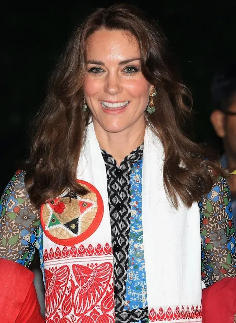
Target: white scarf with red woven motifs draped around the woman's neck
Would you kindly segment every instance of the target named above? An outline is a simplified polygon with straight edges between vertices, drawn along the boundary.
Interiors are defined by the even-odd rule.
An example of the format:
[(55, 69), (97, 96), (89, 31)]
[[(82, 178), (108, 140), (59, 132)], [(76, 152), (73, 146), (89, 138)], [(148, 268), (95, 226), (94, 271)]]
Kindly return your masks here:
[[(162, 144), (147, 127), (143, 151), (142, 222), (149, 321), (200, 323), (202, 319), (199, 207), (194, 203), (192, 207), (187, 208), (181, 201), (178, 210), (171, 205), (163, 186), (163, 160)], [(93, 123), (87, 127), (77, 177), (92, 184), (99, 191), (104, 204), (103, 218), (90, 237), (71, 248), (63, 247), (62, 243), (52, 242), (45, 234), (43, 235), (45, 278), (46, 282), (48, 281), (46, 317), (49, 319), (57, 313), (63, 313), (64, 308), (68, 308), (68, 304), (71, 304), (67, 317), (73, 322), (73, 315), (84, 315), (84, 308), (87, 308), (85, 314), (90, 315), (91, 322), (97, 322), (96, 315), (103, 315), (103, 321), (113, 322), (114, 306), (110, 303), (112, 290), (102, 296), (107, 297), (107, 301), (104, 303), (104, 298), (100, 298), (100, 303), (95, 307), (102, 308), (101, 306), (106, 304), (107, 314), (101, 312), (98, 314), (99, 310), (95, 313), (95, 309), (90, 313), (88, 306), (92, 302), (95, 306), (96, 296), (91, 300), (91, 293), (87, 291), (90, 294), (86, 294), (85, 298), (83, 296), (85, 294), (82, 295), (80, 292), (82, 290), (80, 286), (85, 284), (83, 277), (81, 280), (76, 274), (77, 276), (73, 278), (75, 273), (73, 266), (81, 270), (82, 267), (93, 266), (95, 262), (96, 265), (103, 266), (105, 261), (106, 267), (99, 267), (99, 270), (104, 271), (106, 275), (109, 268), (111, 275), (113, 266), (112, 249), (108, 247), (111, 246), (111, 228), (107, 176)], [(102, 251), (96, 249), (96, 246)], [(95, 250), (95, 253), (92, 254), (91, 250)], [(113, 277), (109, 277), (111, 279), (109, 286), (112, 288)], [(76, 287), (71, 285), (72, 280), (73, 286), (77, 284)], [(81, 300), (78, 300), (79, 297)], [(104, 315), (108, 315), (109, 319)], [(82, 316), (81, 319), (78, 319), (78, 322), (83, 321)], [(51, 322), (51, 319), (46, 321)], [(99, 319), (98, 321), (100, 322)]]

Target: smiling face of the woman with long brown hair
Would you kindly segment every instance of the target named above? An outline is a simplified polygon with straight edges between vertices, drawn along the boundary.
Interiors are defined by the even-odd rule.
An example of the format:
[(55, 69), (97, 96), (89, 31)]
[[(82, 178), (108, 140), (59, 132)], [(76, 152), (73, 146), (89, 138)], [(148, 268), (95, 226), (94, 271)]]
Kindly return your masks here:
[(103, 28), (88, 38), (86, 50), (83, 88), (94, 123), (110, 133), (140, 132), (151, 85), (141, 72), (136, 38)]

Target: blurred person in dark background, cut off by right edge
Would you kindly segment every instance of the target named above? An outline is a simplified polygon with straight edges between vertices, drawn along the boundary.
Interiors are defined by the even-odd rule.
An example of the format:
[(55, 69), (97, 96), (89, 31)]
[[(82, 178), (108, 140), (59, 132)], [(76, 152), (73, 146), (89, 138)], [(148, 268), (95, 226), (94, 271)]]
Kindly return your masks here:
[[(236, 170), (236, 65), (217, 72), (212, 81), (213, 112), (210, 120), (218, 137), (222, 139), (224, 153), (222, 167)], [(236, 228), (236, 175), (228, 178), (231, 191), (232, 213)]]

